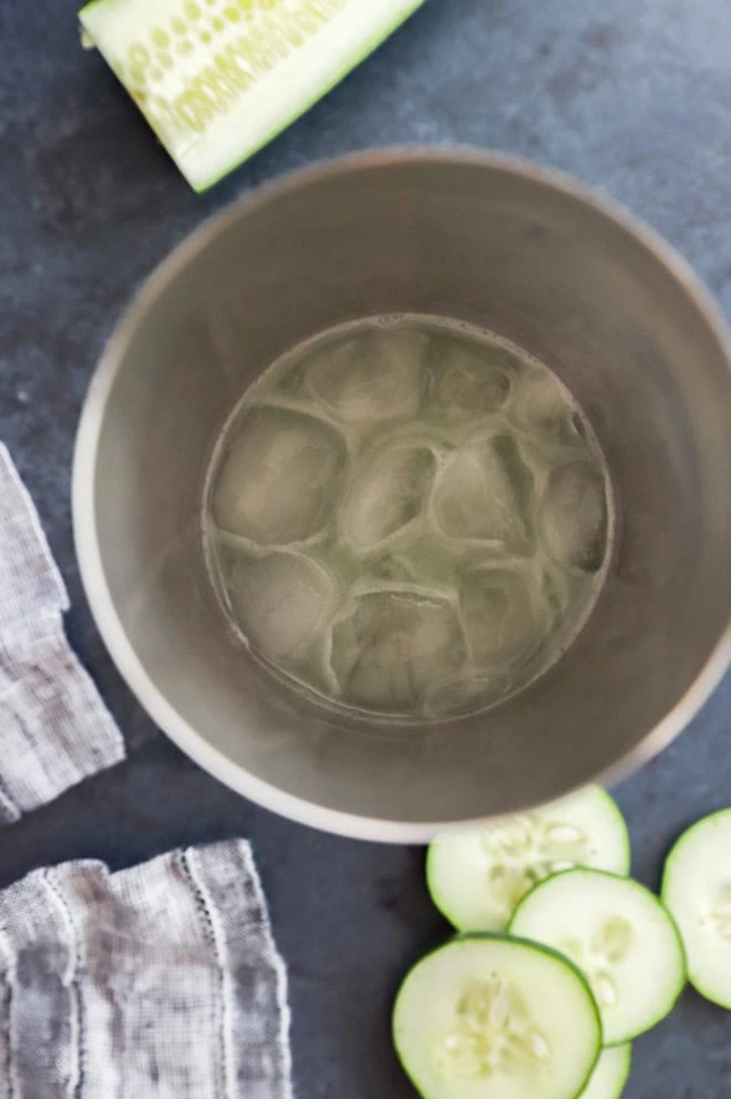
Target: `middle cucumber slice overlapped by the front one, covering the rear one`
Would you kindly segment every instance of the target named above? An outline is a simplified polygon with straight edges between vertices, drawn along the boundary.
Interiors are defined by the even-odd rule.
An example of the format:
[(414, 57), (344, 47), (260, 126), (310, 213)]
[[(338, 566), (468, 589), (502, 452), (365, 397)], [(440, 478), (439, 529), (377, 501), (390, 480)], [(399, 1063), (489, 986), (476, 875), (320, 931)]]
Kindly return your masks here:
[(655, 894), (629, 877), (598, 870), (555, 874), (521, 902), (509, 931), (579, 966), (607, 1046), (629, 1041), (669, 1015), (686, 983), (678, 928)]

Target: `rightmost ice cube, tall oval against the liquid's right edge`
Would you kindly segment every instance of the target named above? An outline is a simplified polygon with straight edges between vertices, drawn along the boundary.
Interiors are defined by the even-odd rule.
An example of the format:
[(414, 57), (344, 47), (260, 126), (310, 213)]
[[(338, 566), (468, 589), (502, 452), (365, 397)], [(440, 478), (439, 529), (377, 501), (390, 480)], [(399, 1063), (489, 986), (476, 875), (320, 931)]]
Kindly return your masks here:
[(607, 546), (607, 499), (601, 470), (588, 461), (552, 470), (538, 507), (538, 528), (555, 562), (596, 573)]

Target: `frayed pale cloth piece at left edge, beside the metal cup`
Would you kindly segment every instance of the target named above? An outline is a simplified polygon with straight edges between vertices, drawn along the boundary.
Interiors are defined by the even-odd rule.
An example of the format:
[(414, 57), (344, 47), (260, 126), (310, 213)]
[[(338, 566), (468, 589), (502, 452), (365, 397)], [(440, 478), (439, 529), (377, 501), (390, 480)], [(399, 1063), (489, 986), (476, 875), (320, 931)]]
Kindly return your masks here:
[(68, 609), (38, 513), (0, 445), (0, 823), (124, 757), (65, 639)]

